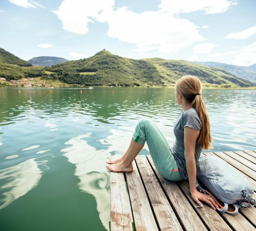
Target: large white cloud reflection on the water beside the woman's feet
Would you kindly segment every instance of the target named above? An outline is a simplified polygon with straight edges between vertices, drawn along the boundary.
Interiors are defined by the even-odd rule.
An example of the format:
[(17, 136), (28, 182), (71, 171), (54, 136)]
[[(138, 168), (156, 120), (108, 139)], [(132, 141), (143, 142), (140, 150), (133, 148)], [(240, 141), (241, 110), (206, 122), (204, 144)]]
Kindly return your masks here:
[[(61, 150), (65, 152), (63, 155), (67, 157), (68, 161), (76, 166), (74, 175), (80, 179), (79, 189), (92, 194), (96, 199), (99, 218), (107, 230), (110, 221), (110, 175), (106, 169), (106, 160), (109, 159), (111, 153), (117, 158), (127, 150), (134, 127), (126, 129), (130, 131), (110, 129), (109, 132), (112, 135), (98, 139), (97, 142), (108, 146), (106, 149), (99, 150), (88, 144), (86, 138), (92, 138), (92, 133), (88, 132), (65, 142), (69, 147)], [(148, 150), (147, 144), (144, 147)]]

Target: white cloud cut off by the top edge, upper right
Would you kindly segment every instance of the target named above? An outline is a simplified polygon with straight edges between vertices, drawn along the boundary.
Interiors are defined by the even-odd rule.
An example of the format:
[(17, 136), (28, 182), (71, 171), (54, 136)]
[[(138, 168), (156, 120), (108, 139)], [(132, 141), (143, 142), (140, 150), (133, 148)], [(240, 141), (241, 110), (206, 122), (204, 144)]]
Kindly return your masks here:
[(198, 10), (204, 11), (205, 14), (214, 14), (225, 12), (236, 4), (235, 0), (162, 0), (158, 8), (173, 14), (190, 13)]

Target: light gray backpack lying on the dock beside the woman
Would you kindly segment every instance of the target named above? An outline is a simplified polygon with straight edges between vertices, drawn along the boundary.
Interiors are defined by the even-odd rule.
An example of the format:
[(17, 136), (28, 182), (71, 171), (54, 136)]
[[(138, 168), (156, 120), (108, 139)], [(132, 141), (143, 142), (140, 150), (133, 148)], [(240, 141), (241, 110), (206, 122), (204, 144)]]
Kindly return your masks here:
[[(253, 186), (229, 163), (220, 157), (201, 155), (196, 167), (197, 179), (221, 201), (227, 204), (237, 203), (242, 208), (245, 207), (243, 203), (245, 201), (249, 206), (254, 206)], [(196, 184), (197, 188), (204, 192), (199, 183)]]

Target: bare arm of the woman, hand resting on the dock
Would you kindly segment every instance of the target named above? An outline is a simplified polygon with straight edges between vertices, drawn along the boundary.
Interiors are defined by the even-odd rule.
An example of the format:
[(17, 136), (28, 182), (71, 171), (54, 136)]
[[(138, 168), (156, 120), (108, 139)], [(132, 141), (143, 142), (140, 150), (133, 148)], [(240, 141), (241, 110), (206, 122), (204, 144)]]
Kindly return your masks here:
[(200, 130), (196, 130), (190, 127), (184, 127), (184, 146), (185, 146), (185, 161), (187, 166), (187, 174), (189, 177), (189, 189), (191, 193), (191, 197), (194, 201), (201, 207), (203, 207), (202, 203), (199, 201), (205, 201), (208, 203), (213, 209), (217, 207), (216, 202), (210, 198), (207, 199), (207, 196), (204, 193), (197, 191), (195, 186), (195, 179), (196, 179), (196, 166), (195, 166), (195, 144), (197, 138), (199, 136)]

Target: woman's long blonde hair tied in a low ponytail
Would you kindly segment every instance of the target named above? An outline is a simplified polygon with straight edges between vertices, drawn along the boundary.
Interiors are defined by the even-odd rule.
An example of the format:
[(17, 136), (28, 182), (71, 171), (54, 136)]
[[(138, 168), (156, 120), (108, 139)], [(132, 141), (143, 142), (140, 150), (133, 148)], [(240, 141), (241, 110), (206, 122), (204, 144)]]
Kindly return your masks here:
[[(207, 114), (207, 110), (202, 99), (202, 83), (193, 75), (184, 75), (177, 80), (175, 88), (180, 91), (182, 96), (191, 102), (191, 106), (197, 110), (197, 113), (201, 121), (201, 130), (197, 142), (202, 149), (212, 148), (211, 142), (211, 128), (210, 119)], [(200, 93), (201, 95), (195, 95)]]

